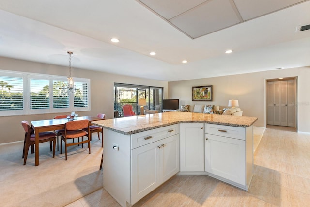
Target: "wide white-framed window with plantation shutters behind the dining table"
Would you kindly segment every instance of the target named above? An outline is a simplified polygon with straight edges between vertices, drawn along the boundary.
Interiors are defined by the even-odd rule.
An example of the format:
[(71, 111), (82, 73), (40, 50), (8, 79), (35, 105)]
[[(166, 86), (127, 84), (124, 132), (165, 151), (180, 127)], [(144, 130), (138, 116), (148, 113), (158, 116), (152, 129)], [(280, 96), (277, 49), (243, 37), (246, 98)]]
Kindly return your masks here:
[(76, 91), (62, 90), (67, 77), (0, 70), (0, 116), (90, 110), (90, 80), (74, 78)]

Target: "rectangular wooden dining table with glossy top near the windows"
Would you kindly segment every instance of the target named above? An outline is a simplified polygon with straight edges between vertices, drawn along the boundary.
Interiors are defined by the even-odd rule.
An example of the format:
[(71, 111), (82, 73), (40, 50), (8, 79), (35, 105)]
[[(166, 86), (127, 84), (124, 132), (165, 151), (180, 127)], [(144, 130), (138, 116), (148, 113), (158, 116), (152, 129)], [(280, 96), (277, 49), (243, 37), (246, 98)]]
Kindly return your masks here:
[[(35, 133), (35, 166), (39, 165), (39, 133), (44, 131), (54, 131), (64, 129), (64, 124), (68, 121), (88, 119), (91, 125), (92, 121), (102, 120), (96, 116), (79, 116), (75, 119), (47, 119), (31, 121), (31, 129)], [(102, 139), (103, 140), (103, 139)]]

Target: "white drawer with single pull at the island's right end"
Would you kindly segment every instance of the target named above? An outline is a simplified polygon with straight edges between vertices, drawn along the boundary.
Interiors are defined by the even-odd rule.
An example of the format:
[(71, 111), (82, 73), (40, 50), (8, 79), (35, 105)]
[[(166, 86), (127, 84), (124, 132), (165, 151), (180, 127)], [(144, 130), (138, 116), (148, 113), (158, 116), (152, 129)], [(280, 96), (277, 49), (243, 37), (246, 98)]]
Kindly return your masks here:
[(226, 125), (205, 124), (205, 133), (239, 140), (246, 140), (246, 129), (243, 127), (232, 127)]

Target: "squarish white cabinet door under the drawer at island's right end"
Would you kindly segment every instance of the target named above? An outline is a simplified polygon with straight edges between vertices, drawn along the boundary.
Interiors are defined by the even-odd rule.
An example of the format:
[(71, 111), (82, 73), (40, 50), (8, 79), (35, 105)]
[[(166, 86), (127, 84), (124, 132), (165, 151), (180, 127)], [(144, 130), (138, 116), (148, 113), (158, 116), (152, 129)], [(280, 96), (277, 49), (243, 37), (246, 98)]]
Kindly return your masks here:
[(246, 185), (245, 141), (205, 135), (205, 171)]

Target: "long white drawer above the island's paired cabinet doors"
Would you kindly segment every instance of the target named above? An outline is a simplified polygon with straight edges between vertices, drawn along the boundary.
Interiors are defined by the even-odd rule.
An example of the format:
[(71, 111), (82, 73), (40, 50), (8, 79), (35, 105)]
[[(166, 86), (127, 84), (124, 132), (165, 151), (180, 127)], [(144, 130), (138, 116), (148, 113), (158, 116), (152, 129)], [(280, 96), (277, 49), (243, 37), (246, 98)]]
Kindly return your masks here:
[(131, 135), (131, 149), (153, 143), (179, 133), (179, 124), (143, 131)]

